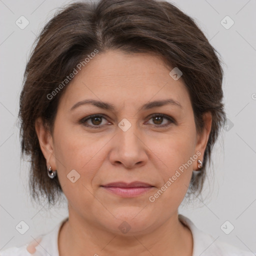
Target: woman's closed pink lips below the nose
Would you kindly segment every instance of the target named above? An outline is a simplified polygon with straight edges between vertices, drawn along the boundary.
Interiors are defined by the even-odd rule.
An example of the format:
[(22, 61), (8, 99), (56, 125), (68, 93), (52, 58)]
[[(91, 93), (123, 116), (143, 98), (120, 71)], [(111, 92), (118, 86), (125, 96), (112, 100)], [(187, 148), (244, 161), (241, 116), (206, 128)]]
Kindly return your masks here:
[(153, 186), (139, 181), (133, 181), (131, 183), (120, 181), (108, 183), (106, 185), (102, 185), (102, 187), (122, 197), (133, 197), (149, 191)]

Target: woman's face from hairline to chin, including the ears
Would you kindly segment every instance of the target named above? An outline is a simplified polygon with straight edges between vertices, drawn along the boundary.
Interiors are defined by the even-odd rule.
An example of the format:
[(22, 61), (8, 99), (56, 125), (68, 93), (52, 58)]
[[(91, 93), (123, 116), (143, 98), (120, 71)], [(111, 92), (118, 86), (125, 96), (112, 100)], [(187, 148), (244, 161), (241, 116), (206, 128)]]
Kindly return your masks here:
[[(182, 76), (174, 80), (170, 71), (158, 56), (107, 51), (68, 84), (52, 139), (43, 132), (39, 139), (57, 169), (69, 217), (113, 232), (126, 221), (129, 232), (143, 233), (177, 213), (203, 158), (211, 118), (205, 115), (208, 130), (197, 135)], [(97, 116), (86, 120), (90, 115)], [(105, 187), (133, 181), (149, 186)]]

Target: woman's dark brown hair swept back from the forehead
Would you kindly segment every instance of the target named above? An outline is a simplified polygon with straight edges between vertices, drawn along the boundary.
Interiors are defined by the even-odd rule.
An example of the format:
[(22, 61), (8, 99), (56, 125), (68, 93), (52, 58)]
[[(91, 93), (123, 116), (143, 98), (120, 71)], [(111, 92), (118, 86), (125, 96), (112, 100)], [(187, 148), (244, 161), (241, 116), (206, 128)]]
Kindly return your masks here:
[(220, 127), (225, 122), (222, 104), (223, 71), (217, 51), (193, 19), (173, 4), (157, 0), (100, 0), (76, 2), (61, 9), (45, 25), (26, 64), (20, 94), (21, 151), (30, 156), (29, 187), (32, 198), (46, 195), (54, 204), (62, 189), (50, 179), (35, 132), (42, 117), (52, 131), (61, 94), (47, 95), (59, 85), (87, 54), (97, 49), (120, 49), (127, 53), (153, 52), (182, 71), (189, 92), (196, 130), (203, 127), (202, 114), (210, 111), (212, 126), (199, 174), (192, 175), (188, 192), (202, 189), (205, 166)]

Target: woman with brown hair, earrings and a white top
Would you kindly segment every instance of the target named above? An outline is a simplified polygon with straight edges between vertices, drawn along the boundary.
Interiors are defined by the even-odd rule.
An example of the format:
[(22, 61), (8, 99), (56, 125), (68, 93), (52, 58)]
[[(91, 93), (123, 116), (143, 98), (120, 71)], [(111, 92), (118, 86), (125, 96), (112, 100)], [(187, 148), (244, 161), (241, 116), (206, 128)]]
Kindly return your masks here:
[(225, 121), (222, 68), (165, 1), (73, 3), (43, 28), (20, 95), (34, 198), (68, 217), (5, 255), (252, 255), (178, 214)]

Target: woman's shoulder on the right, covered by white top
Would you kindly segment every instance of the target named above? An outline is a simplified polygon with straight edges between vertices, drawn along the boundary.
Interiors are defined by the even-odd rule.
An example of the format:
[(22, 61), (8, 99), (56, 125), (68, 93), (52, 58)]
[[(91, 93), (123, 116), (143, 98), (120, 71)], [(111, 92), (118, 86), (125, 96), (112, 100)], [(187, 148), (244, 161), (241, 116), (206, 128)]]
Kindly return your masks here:
[(179, 214), (179, 220), (184, 223), (191, 231), (193, 237), (192, 256), (255, 256), (254, 253), (241, 250), (229, 243), (214, 238), (197, 228), (187, 217)]

